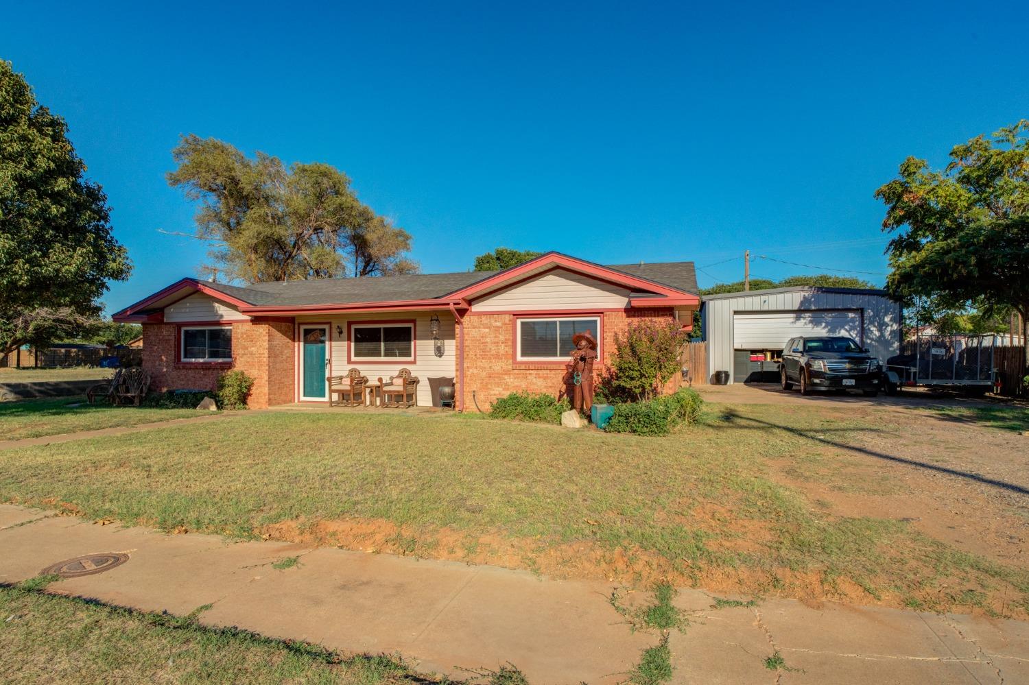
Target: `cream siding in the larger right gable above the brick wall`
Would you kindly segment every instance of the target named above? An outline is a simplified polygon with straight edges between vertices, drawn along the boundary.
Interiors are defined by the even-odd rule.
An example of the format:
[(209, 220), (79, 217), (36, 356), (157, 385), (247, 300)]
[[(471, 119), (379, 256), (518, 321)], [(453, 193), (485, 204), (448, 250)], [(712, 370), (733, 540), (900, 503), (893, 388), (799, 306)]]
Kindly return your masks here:
[(557, 269), (475, 300), (471, 310), (605, 310), (625, 308), (628, 303), (627, 288)]

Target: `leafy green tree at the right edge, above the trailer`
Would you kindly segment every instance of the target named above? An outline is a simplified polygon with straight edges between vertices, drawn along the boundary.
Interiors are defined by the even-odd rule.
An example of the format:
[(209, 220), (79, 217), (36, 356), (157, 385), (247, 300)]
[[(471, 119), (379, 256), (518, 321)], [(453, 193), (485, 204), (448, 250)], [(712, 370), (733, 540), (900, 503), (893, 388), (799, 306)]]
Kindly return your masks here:
[[(1014, 309), (1029, 334), (1029, 120), (956, 145), (943, 171), (908, 157), (876, 190), (886, 205), (887, 287), (987, 316)], [(1029, 366), (1029, 339), (1025, 346)]]

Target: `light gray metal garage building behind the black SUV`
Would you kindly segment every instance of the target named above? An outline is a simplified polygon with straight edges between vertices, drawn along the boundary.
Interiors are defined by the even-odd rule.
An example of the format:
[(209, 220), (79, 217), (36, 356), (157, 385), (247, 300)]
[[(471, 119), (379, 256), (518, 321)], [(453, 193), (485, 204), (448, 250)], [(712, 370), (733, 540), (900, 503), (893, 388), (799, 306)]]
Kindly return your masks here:
[(884, 290), (795, 286), (705, 295), (701, 331), (709, 380), (779, 377), (783, 346), (799, 335), (846, 335), (885, 362), (899, 353), (900, 304)]

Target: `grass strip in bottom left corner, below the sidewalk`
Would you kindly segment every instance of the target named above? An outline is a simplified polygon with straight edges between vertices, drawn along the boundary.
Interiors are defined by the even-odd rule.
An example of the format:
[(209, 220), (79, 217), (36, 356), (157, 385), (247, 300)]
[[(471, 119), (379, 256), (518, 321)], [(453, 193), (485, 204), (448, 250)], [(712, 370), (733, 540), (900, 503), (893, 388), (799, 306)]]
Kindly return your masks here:
[(432, 682), (385, 656), (345, 658), (305, 643), (206, 628), (196, 616), (144, 614), (19, 586), (0, 586), (0, 617), (3, 683)]

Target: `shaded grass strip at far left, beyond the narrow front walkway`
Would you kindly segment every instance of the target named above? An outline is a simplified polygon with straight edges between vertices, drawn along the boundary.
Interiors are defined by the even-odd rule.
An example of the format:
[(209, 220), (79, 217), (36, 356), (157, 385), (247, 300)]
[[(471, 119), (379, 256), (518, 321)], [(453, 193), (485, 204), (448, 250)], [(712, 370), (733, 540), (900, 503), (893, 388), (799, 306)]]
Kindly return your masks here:
[(154, 421), (200, 417), (210, 411), (153, 409), (87, 404), (84, 397), (59, 397), (0, 402), (0, 440), (137, 426)]

